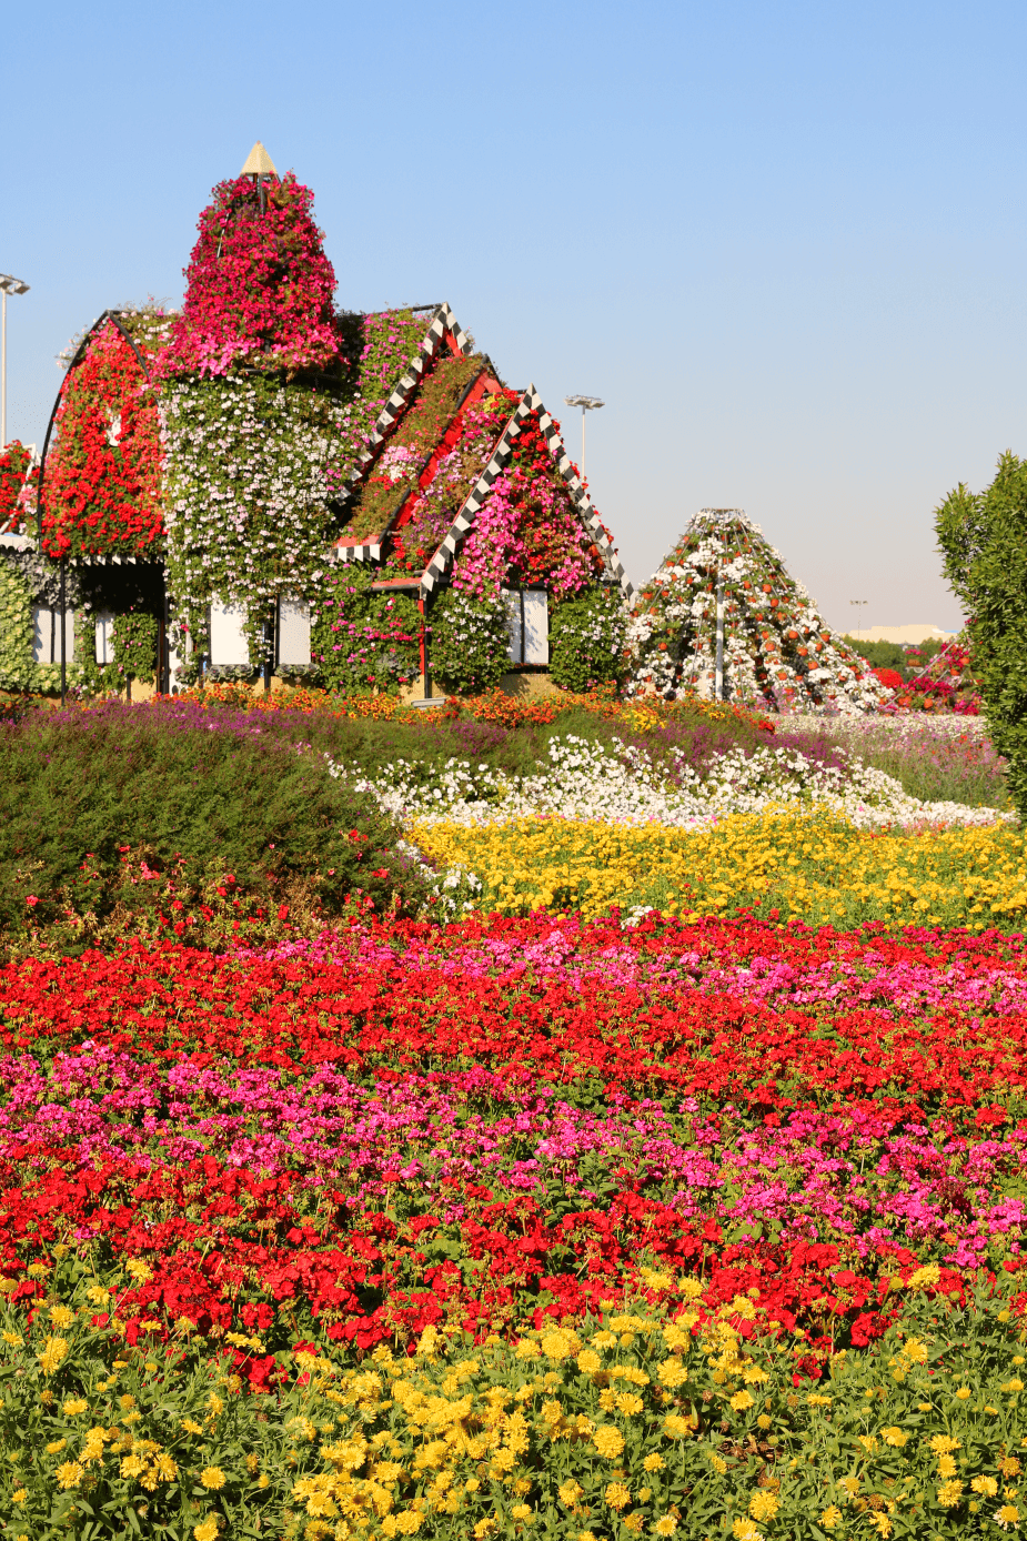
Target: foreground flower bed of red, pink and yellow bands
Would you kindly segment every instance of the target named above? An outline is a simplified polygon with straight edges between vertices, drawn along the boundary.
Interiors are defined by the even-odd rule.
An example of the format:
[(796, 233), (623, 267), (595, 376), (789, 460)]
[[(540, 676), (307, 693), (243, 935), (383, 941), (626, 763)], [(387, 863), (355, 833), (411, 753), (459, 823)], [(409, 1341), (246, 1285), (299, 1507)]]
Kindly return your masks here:
[(0, 982), (9, 1535), (1018, 1523), (1019, 938), (364, 923)]

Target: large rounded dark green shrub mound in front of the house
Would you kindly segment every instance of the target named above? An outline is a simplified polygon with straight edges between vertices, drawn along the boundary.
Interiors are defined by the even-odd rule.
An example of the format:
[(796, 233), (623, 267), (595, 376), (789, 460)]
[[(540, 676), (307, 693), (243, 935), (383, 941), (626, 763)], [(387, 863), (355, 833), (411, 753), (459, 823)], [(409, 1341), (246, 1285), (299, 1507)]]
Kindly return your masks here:
[[(126, 903), (130, 848), (150, 852), (157, 874), (177, 863), (177, 886), (194, 894), (233, 874), (241, 891), (265, 901), (302, 880), (325, 914), (338, 914), (356, 889), (384, 908), (419, 883), (396, 840), (392, 821), (333, 780), (319, 754), (250, 715), (108, 704), (35, 717), (0, 737), (8, 940), (29, 920), (60, 922), (69, 894), (77, 914), (91, 908), (99, 920)], [(156, 900), (159, 889), (136, 894), (153, 908), (145, 892)]]

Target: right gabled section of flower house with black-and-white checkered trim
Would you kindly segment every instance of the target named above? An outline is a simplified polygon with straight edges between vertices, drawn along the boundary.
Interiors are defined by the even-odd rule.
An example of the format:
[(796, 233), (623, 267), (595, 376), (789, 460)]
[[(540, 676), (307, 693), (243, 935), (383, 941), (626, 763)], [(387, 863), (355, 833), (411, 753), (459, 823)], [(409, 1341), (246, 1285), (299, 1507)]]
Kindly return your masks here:
[(509, 390), (447, 305), (339, 502), (322, 646), (339, 633), (350, 646), (349, 612), (376, 596), (416, 636), (426, 686), (481, 689), (510, 670), (572, 689), (618, 676), (631, 587), (609, 533), (535, 388)]

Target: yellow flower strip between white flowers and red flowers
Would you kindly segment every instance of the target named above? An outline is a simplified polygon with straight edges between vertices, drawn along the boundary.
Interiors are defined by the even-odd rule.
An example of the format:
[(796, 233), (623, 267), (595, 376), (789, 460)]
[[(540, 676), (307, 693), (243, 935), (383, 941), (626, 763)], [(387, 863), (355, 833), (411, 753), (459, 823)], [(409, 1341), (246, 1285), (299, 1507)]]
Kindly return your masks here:
[(563, 818), (416, 826), (439, 868), (464, 865), (486, 911), (651, 905), (694, 917), (753, 909), (816, 923), (1016, 929), (1027, 922), (1024, 835), (1008, 824), (874, 834), (823, 815), (736, 814), (689, 834)]

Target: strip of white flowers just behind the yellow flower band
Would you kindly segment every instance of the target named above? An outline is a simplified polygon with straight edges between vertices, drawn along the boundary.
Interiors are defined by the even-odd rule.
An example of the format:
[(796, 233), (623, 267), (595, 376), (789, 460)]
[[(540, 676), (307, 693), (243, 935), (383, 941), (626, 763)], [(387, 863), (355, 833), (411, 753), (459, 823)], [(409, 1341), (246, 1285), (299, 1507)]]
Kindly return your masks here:
[[(848, 758), (845, 769), (833, 769), (794, 749), (766, 747), (749, 755), (732, 749), (705, 775), (686, 766), (683, 757), (666, 774), (645, 750), (615, 743), (618, 754), (571, 735), (552, 738), (551, 764), (529, 777), (507, 777), (470, 760), (452, 758), (441, 772), (396, 760), (375, 778), (353, 778), (353, 786), (372, 792), (407, 828), (443, 820), (475, 826), (560, 817), (703, 829), (726, 814), (774, 809), (828, 812), (857, 829), (992, 824), (1012, 817), (990, 807), (924, 803), (857, 758)], [(349, 778), (344, 766), (328, 764), (332, 775)]]

